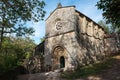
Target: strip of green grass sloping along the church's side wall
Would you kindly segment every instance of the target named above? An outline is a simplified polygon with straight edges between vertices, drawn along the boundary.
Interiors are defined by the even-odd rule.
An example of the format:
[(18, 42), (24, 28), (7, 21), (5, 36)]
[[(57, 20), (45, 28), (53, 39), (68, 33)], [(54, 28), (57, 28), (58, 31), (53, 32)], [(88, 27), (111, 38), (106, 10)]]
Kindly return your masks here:
[(111, 67), (112, 63), (114, 63), (114, 60), (115, 59), (111, 57), (102, 62), (81, 67), (73, 72), (63, 72), (61, 73), (61, 77), (66, 78), (67, 80), (74, 80), (77, 78), (88, 77), (90, 75), (96, 75), (101, 73), (104, 69)]

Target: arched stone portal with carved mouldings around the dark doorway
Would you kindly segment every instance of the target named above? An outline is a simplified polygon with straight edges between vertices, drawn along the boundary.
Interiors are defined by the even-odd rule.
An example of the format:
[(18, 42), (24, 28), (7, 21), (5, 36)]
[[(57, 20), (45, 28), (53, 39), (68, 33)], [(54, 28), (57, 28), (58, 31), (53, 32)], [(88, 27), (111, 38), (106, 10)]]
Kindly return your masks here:
[(67, 54), (63, 47), (57, 46), (52, 54), (52, 69), (64, 68), (67, 61)]

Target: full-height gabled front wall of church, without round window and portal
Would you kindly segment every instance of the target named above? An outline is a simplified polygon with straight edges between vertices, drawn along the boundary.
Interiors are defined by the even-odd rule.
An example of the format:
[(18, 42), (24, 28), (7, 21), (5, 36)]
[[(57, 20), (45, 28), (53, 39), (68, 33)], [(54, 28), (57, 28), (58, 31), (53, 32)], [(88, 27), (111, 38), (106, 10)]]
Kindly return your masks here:
[[(59, 8), (46, 20), (46, 39), (45, 39), (45, 65), (53, 66), (55, 60), (59, 59), (60, 56), (65, 57), (65, 68), (71, 66), (72, 58), (75, 56), (75, 27), (76, 27), (76, 16), (74, 15), (74, 7)], [(56, 29), (56, 23), (61, 22), (61, 29)], [(54, 56), (54, 49), (56, 47), (62, 47), (65, 50), (64, 55)], [(54, 64), (53, 64), (54, 63)], [(58, 67), (59, 68), (59, 67)]]

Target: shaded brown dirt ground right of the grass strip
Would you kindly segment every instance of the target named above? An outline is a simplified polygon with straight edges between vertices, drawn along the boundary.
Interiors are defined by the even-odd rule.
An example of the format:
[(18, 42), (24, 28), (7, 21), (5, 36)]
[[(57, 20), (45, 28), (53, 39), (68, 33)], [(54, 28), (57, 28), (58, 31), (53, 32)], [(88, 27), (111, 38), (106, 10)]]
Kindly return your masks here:
[(100, 73), (76, 80), (120, 80), (120, 55), (114, 56), (110, 61), (112, 64)]

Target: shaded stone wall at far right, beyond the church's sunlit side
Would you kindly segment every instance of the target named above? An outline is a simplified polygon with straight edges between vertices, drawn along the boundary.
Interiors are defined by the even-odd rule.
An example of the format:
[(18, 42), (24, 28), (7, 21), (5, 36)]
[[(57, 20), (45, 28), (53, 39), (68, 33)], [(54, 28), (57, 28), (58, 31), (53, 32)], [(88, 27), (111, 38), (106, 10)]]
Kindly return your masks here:
[(106, 56), (120, 52), (120, 34), (106, 34), (104, 44)]

